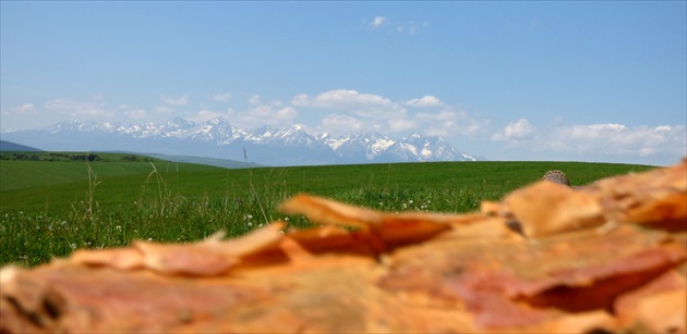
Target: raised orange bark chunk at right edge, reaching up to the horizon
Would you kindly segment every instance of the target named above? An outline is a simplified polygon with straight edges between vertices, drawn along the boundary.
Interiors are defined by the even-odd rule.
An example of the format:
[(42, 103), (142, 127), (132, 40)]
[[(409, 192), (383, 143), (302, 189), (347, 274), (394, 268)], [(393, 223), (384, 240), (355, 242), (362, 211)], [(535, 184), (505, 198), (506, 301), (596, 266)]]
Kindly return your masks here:
[[(528, 237), (611, 223), (687, 231), (687, 159), (674, 166), (601, 180), (580, 191), (541, 181), (481, 212), (503, 217)], [(511, 220), (511, 221), (510, 221)]]

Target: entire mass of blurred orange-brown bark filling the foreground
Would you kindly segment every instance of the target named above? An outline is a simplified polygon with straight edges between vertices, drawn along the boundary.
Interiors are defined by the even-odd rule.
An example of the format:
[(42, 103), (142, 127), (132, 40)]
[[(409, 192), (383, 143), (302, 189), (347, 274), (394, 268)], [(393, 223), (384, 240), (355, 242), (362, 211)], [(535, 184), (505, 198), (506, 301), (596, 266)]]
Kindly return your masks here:
[(687, 160), (480, 212), (300, 195), (321, 227), (80, 250), (2, 269), (0, 332), (685, 333)]

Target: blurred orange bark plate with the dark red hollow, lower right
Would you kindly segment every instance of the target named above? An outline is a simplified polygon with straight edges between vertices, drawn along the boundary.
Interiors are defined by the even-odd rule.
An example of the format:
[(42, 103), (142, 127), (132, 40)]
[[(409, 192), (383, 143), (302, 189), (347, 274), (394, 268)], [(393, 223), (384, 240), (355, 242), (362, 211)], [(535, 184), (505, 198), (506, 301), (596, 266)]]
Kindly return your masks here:
[(462, 300), (482, 330), (532, 327), (559, 317), (556, 310), (610, 309), (618, 295), (683, 262), (687, 250), (665, 237), (620, 226), (537, 244), (442, 239), (397, 250), (378, 284)]

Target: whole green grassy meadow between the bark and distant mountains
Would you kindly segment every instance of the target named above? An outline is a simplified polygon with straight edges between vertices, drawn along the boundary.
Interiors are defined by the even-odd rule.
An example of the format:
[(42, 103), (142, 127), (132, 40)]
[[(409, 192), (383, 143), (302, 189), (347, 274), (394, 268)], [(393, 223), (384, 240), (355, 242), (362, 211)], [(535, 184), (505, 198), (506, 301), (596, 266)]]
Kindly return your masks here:
[(14, 153), (0, 154), (0, 265), (36, 265), (136, 239), (185, 243), (219, 230), (238, 236), (275, 220), (302, 228), (310, 226), (304, 218), (276, 210), (299, 193), (384, 211), (468, 212), (553, 169), (572, 185), (651, 169), (435, 162), (229, 170), (132, 154)]

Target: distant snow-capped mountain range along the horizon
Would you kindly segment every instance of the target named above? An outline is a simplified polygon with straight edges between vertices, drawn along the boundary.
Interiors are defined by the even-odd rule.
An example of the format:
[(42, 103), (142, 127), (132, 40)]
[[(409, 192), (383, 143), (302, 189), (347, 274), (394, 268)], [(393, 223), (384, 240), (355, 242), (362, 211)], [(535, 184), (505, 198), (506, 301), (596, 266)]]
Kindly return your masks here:
[(474, 161), (441, 137), (412, 134), (398, 140), (381, 133), (334, 138), (300, 125), (244, 131), (226, 119), (174, 117), (162, 124), (70, 122), (2, 134), (3, 140), (45, 150), (135, 151), (250, 161), (264, 165)]

